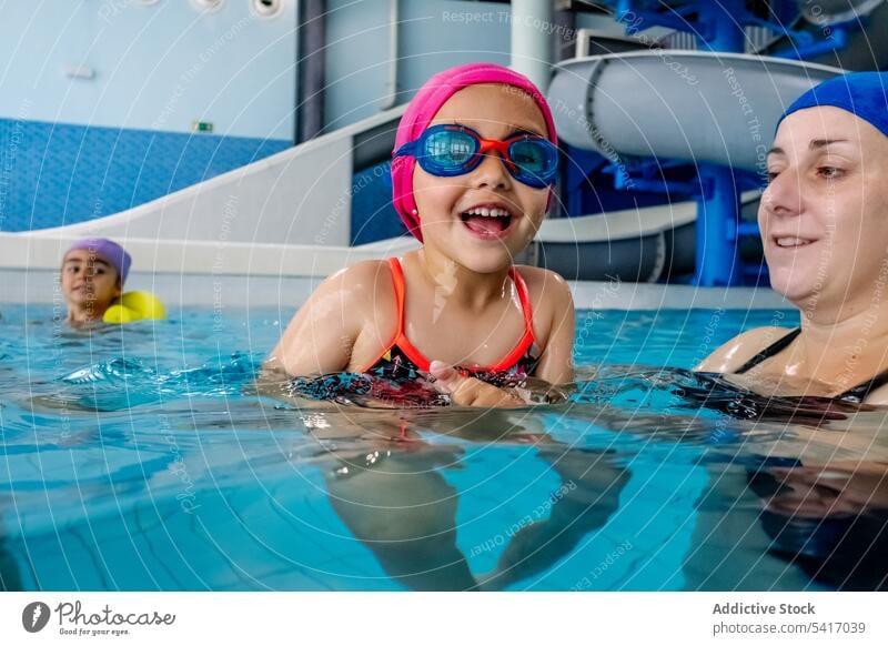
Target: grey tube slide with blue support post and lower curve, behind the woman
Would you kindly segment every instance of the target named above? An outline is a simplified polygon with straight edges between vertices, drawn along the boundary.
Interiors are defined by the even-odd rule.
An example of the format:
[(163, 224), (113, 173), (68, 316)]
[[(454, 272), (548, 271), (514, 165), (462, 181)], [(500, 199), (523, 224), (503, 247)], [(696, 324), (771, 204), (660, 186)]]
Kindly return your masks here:
[[(548, 89), (558, 137), (606, 160), (604, 171), (617, 190), (662, 193), (667, 203), (639, 209), (637, 216), (619, 212), (624, 225), (613, 234), (596, 226), (599, 215), (552, 220), (539, 244), (553, 260), (543, 264), (578, 279), (599, 277), (602, 270), (630, 279), (635, 265), (637, 280), (657, 280), (697, 268), (702, 284), (740, 284), (738, 240), (741, 233), (757, 236), (757, 230), (739, 215), (744, 202), (755, 204), (777, 120), (799, 94), (837, 73), (816, 63), (672, 50), (561, 63)], [(602, 185), (607, 175), (598, 174)], [(744, 199), (744, 190), (753, 193)], [(692, 208), (682, 201), (687, 195), (696, 196)], [(648, 273), (652, 233), (663, 240), (663, 251)], [(603, 268), (596, 259), (613, 254), (613, 243), (620, 246), (619, 261)], [(572, 249), (575, 268), (564, 261)], [(754, 263), (754, 271), (759, 266)]]

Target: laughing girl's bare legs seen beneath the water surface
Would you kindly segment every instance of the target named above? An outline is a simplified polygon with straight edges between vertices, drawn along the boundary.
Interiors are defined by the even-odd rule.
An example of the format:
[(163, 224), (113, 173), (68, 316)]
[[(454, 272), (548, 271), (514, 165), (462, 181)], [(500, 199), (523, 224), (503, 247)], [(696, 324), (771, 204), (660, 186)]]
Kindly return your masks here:
[[(372, 456), (372, 457), (370, 457)], [(384, 456), (384, 457), (383, 457)], [(539, 574), (567, 556), (617, 508), (625, 470), (601, 456), (577, 460), (555, 446), (541, 452), (569, 485), (551, 505), (549, 516), (531, 521), (508, 536), (494, 572), (483, 581), (498, 589)], [(330, 502), (345, 525), (379, 558), (385, 572), (411, 589), (476, 589), (466, 556), (456, 547), (458, 492), (440, 466), (458, 461), (454, 451), (413, 454), (374, 451), (364, 465), (350, 463), (327, 480)], [(587, 467), (588, 461), (596, 464)], [(571, 465), (581, 466), (574, 473)], [(576, 480), (568, 480), (575, 476)], [(533, 507), (526, 509), (529, 517)]]

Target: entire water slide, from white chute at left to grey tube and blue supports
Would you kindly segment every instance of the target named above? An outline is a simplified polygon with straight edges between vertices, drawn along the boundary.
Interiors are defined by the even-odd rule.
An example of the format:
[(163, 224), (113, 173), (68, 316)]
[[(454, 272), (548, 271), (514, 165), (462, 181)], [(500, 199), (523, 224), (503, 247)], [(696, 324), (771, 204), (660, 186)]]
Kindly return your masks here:
[[(888, 42), (867, 39), (888, 29), (888, 0), (606, 4), (626, 37), (602, 37), (596, 51), (614, 53), (547, 68), (565, 171), (522, 260), (574, 280), (756, 284), (755, 211), (777, 119), (840, 67), (888, 63)], [(121, 213), (0, 233), (0, 269), (57, 272), (84, 235), (121, 240), (138, 268), (160, 274), (321, 276), (402, 254), (416, 248), (390, 204), (402, 112)]]

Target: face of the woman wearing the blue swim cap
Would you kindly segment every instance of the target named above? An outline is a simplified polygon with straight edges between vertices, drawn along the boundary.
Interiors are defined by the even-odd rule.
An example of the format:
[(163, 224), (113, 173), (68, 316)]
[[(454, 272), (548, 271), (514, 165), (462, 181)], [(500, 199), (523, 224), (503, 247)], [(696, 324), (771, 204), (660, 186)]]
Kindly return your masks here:
[(799, 110), (768, 175), (758, 223), (774, 289), (803, 309), (868, 306), (888, 281), (888, 138), (838, 108)]

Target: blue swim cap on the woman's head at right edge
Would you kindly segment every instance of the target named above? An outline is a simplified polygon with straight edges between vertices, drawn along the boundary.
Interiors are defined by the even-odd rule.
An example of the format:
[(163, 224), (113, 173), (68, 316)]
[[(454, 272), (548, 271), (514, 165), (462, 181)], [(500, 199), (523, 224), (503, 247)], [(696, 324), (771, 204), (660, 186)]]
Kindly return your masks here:
[(793, 112), (818, 105), (846, 110), (888, 137), (888, 72), (854, 72), (824, 81), (796, 99), (777, 127)]

